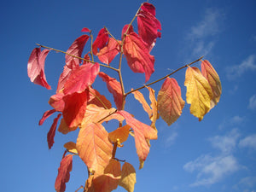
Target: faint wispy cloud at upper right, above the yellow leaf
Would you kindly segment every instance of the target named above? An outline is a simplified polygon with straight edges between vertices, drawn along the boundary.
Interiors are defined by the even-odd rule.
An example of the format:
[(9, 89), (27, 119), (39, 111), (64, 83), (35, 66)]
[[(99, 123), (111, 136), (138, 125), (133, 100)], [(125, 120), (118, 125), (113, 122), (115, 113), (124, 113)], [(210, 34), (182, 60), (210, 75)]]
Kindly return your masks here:
[[(204, 17), (191, 26), (186, 36), (192, 55), (207, 55), (215, 45), (215, 35), (221, 32), (223, 14), (219, 9), (206, 9)], [(214, 38), (213, 38), (214, 37)]]

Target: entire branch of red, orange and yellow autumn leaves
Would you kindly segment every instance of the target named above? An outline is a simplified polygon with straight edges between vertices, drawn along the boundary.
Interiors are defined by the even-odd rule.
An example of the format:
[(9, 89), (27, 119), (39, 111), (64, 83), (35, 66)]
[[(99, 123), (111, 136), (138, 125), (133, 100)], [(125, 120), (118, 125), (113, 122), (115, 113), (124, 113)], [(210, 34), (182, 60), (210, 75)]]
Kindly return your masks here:
[[(133, 21), (136, 18), (137, 32), (133, 29), (135, 25)], [(161, 24), (155, 17), (154, 5), (143, 3), (131, 23), (124, 26), (120, 39), (114, 38), (108, 28), (104, 27), (93, 41), (92, 32), (85, 27), (82, 32), (86, 34), (75, 39), (66, 52), (61, 51), (65, 53), (66, 65), (60, 75), (55, 95), (49, 98), (52, 109), (43, 114), (39, 125), (43, 125), (44, 120), (55, 113), (56, 117), (47, 135), (49, 148), (55, 143), (58, 121), (59, 132), (67, 134), (79, 128), (79, 135), (76, 143), (64, 144), (65, 153), (55, 180), (56, 191), (65, 191), (75, 155), (84, 161), (89, 172), (86, 183), (80, 188), (84, 192), (108, 192), (116, 189), (118, 185), (128, 192), (134, 191), (137, 182), (136, 171), (128, 162), (115, 157), (117, 147), (123, 147), (126, 139), (133, 137), (139, 167), (143, 168), (149, 153), (149, 141), (157, 139), (155, 121), (161, 117), (167, 125), (172, 125), (182, 114), (185, 105), (180, 86), (176, 79), (169, 77), (173, 73), (125, 93), (121, 73), (122, 59), (125, 58), (132, 72), (144, 73), (147, 83), (154, 73), (154, 55), (151, 55), (150, 51), (154, 48), (157, 38), (161, 37), (160, 31)], [(84, 45), (88, 41), (91, 41), (90, 49), (83, 55)], [(46, 81), (44, 61), (51, 49), (39, 45), (32, 50), (27, 63), (27, 73), (31, 81), (48, 90), (51, 87)], [(118, 55), (119, 63), (113, 64), (113, 59)], [(201, 70), (190, 67), (197, 61), (201, 61)], [(117, 79), (101, 72), (102, 67), (115, 71)], [(201, 58), (178, 68), (174, 73), (185, 67), (186, 102), (190, 104), (190, 113), (201, 120), (219, 101), (221, 83), (218, 73), (209, 61), (202, 61)], [(107, 85), (108, 91), (113, 95), (114, 103), (109, 102), (102, 93), (93, 89), (97, 77)], [(164, 82), (158, 95), (155, 96), (150, 85), (160, 80)], [(146, 102), (139, 91), (144, 88), (148, 89), (150, 103)], [(131, 93), (148, 113), (151, 125), (144, 124), (130, 112), (125, 111), (125, 98)], [(119, 124), (115, 131), (108, 132), (104, 122), (112, 119), (118, 120)]]

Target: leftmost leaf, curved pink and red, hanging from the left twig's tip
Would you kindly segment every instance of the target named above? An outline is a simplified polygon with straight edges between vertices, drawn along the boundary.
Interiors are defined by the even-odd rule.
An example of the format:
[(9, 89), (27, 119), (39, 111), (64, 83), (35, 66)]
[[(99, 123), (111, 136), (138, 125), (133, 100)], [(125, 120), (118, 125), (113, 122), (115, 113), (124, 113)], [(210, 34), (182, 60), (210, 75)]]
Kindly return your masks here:
[(41, 52), (41, 48), (35, 48), (32, 50), (27, 62), (27, 75), (31, 82), (39, 84), (46, 89), (50, 90), (50, 86), (46, 81), (44, 74), (44, 61), (49, 53), (49, 49), (44, 49)]

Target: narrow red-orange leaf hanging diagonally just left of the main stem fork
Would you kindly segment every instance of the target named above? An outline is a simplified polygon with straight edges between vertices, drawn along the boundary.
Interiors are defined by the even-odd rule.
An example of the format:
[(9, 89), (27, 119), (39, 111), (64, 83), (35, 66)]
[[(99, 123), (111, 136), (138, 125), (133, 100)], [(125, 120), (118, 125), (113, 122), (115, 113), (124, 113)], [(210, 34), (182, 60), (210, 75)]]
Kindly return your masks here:
[(119, 110), (122, 108), (123, 104), (123, 93), (121, 84), (114, 78), (108, 76), (108, 74), (100, 72), (99, 77), (106, 82), (108, 91), (113, 94), (113, 101), (116, 105), (116, 108)]

